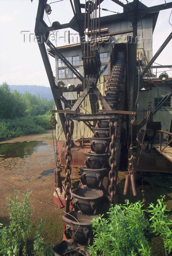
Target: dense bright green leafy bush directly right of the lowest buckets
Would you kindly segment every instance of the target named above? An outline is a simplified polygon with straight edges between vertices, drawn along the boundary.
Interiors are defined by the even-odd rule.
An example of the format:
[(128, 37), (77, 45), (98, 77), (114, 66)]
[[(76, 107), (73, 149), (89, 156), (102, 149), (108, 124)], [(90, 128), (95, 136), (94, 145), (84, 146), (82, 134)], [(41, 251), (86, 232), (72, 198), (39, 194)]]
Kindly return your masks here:
[(92, 221), (95, 237), (93, 245), (89, 246), (89, 252), (93, 256), (123, 256), (123, 255), (150, 255), (148, 241), (145, 232), (148, 222), (142, 203), (116, 205), (111, 207), (108, 218), (99, 216)]

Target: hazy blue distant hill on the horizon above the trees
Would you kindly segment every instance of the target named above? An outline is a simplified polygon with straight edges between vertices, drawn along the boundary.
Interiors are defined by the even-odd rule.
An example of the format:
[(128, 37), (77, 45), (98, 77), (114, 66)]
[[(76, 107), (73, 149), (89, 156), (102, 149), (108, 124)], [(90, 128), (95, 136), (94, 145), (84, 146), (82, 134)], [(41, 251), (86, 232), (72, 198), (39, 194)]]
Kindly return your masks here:
[(13, 93), (14, 90), (17, 90), (21, 94), (28, 91), (28, 93), (34, 94), (40, 98), (53, 99), (53, 94), (50, 87), (37, 85), (9, 85), (9, 88), (11, 93)]

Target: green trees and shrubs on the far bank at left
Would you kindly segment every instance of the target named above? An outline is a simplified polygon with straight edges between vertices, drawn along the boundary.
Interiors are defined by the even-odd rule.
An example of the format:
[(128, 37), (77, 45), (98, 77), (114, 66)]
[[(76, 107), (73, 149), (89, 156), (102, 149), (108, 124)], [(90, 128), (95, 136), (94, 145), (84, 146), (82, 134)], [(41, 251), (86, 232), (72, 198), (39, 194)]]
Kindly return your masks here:
[[(39, 86), (38, 86), (39, 87)], [(50, 110), (54, 99), (37, 97), (14, 90), (7, 83), (0, 86), (0, 140), (45, 132), (50, 129)]]

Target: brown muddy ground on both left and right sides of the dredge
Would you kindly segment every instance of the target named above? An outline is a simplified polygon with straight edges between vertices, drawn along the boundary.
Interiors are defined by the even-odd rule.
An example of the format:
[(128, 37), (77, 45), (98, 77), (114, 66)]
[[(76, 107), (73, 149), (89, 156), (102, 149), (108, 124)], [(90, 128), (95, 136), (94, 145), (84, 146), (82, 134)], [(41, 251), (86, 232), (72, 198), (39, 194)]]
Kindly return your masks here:
[[(51, 135), (51, 131), (47, 132)], [(54, 158), (53, 139), (46, 139), (45, 134), (28, 135), (15, 138), (2, 143), (42, 141), (47, 143), (45, 151), (33, 153), (25, 158), (4, 158), (0, 155), (0, 223), (8, 224), (9, 215), (6, 206), (6, 198), (14, 195), (14, 189), (20, 194), (26, 192), (27, 188), (32, 191), (30, 203), (33, 206), (33, 225), (36, 227), (40, 220), (45, 222), (43, 237), (47, 246), (57, 244), (62, 240), (64, 211), (60, 210), (53, 202), (54, 192), (54, 168), (56, 162)], [(125, 203), (127, 196), (123, 195), (125, 183), (125, 172), (119, 172), (119, 188), (121, 196), (119, 203)], [(64, 169), (62, 169), (64, 180)], [(79, 169), (73, 168), (73, 185), (76, 188), (79, 184)], [(146, 202), (156, 203), (160, 196), (165, 195), (164, 203), (170, 210), (172, 218), (172, 174), (138, 172), (136, 178), (137, 197), (128, 196), (130, 202), (143, 199), (142, 189), (145, 190)], [(33, 239), (31, 237), (31, 239)], [(163, 241), (152, 236), (150, 246), (154, 256), (165, 255)]]

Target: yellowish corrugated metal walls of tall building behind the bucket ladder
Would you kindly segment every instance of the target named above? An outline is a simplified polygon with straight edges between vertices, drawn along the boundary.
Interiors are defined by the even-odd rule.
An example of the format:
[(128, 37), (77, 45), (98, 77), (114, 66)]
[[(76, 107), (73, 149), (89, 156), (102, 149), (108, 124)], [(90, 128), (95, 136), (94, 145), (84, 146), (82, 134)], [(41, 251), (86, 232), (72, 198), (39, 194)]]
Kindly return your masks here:
[[(101, 26), (101, 29), (108, 27), (108, 30), (111, 33), (114, 31), (129, 30), (129, 29), (131, 29), (131, 26), (132, 26), (131, 22), (120, 21), (120, 22), (114, 22), (114, 23), (111, 23), (108, 25), (106, 23), (105, 25)], [(138, 57), (139, 57), (139, 59), (141, 59), (141, 53), (143, 51), (143, 48), (145, 49), (144, 55), (145, 55), (146, 60), (149, 61), (152, 58), (152, 26), (153, 26), (152, 18), (142, 19), (142, 22), (138, 23)], [(114, 36), (114, 38), (111, 37), (111, 40), (114, 39), (115, 42), (118, 42), (118, 43), (127, 42), (127, 35), (132, 36), (133, 33), (116, 35), (116, 36)], [(145, 38), (144, 41), (142, 40), (143, 37)], [(99, 50), (100, 50), (100, 53), (102, 53), (102, 52), (108, 53), (108, 62), (110, 62), (110, 54), (111, 54), (111, 50), (112, 50), (111, 42), (104, 42), (104, 44), (100, 44)], [(79, 56), (80, 57), (80, 74), (84, 76), (82, 53), (81, 53), (80, 46), (72, 46), (69, 48), (60, 49), (60, 51), (65, 57), (70, 57), (70, 56)], [(58, 78), (58, 65), (57, 64), (58, 64), (58, 57), (56, 56), (56, 80)], [(109, 65), (108, 65), (108, 74), (109, 74)], [(59, 80), (63, 80), (63, 82), (66, 84), (66, 86), (68, 83), (73, 83), (75, 85), (80, 83), (80, 80), (78, 78), (68, 78), (68, 79), (59, 79)], [(58, 82), (58, 80), (57, 80), (57, 82)], [(98, 83), (98, 88), (99, 88), (100, 92), (102, 93), (102, 95), (104, 95), (104, 91), (106, 90), (106, 82), (104, 82), (103, 76), (100, 77), (100, 82)], [(141, 95), (142, 95), (142, 92), (140, 93), (139, 97), (141, 97)], [(64, 93), (64, 97), (66, 99), (77, 99), (77, 93), (76, 92)], [(64, 107), (64, 103), (62, 103), (62, 106)], [(101, 105), (100, 105), (100, 108), (101, 108)], [(145, 109), (147, 109), (147, 107)], [(143, 109), (143, 111), (141, 113), (140, 120), (142, 120), (143, 116), (145, 117), (145, 111), (146, 110)], [(81, 107), (81, 112), (91, 113), (89, 97), (87, 97), (83, 101), (82, 107)], [(60, 138), (59, 138), (60, 140), (65, 140), (65, 135), (62, 132), (62, 126), (61, 126), (61, 122), (60, 122), (60, 118), (59, 118), (58, 114), (57, 114), (57, 123), (58, 123), (57, 124), (57, 137), (60, 136)], [(74, 140), (79, 139), (79, 138), (81, 138), (82, 135), (84, 135), (84, 137), (87, 138), (88, 136), (92, 136), (92, 132), (82, 121), (81, 122), (74, 121), (73, 139)]]

